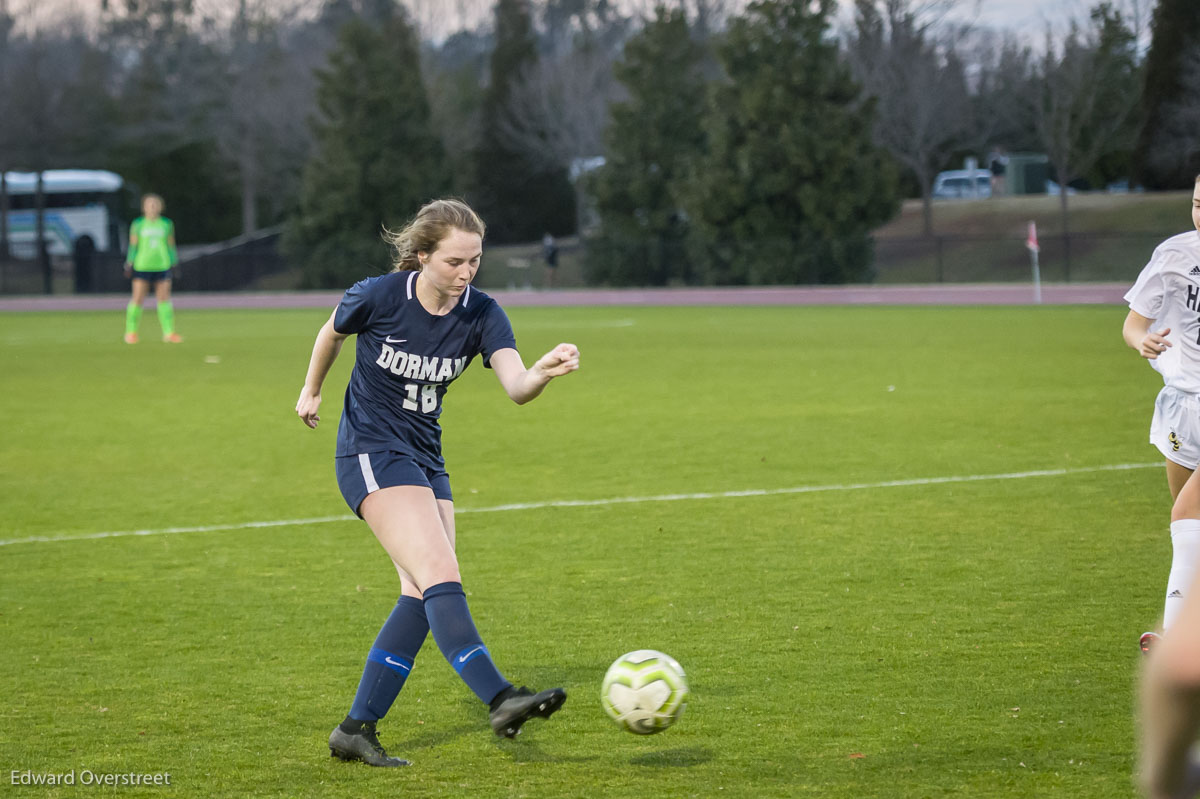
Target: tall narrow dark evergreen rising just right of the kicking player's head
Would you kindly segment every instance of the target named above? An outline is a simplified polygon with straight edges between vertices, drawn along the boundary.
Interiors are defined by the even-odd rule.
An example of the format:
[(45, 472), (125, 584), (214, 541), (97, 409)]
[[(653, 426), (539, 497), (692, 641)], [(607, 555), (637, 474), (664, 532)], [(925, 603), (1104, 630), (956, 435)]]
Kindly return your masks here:
[(473, 158), (470, 199), (493, 241), (528, 241), (575, 229), (575, 193), (565, 169), (532, 163), (500, 134), (512, 85), (536, 62), (528, 0), (497, 0), (496, 49), (484, 95), (481, 142)]

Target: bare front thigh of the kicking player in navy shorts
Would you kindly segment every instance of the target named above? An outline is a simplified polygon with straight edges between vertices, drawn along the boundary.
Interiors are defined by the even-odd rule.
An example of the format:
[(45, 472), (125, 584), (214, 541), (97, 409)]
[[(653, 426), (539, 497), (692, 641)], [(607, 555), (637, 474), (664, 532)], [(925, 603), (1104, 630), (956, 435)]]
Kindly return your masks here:
[(362, 500), (359, 512), (397, 570), (407, 572), (419, 590), (462, 581), (438, 501), (430, 488), (380, 488)]

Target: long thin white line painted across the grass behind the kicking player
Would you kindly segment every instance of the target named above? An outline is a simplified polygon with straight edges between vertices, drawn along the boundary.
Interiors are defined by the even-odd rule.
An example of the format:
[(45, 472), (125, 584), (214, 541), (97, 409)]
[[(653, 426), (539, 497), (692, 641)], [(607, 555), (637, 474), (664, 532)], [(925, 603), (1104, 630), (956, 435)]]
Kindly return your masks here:
[[(1096, 471), (1129, 471), (1132, 469), (1162, 468), (1162, 461), (1156, 463), (1115, 463), (1100, 467), (1082, 467), (1079, 469), (1037, 469), (1034, 471), (1008, 471), (1003, 474), (965, 474), (946, 477), (912, 477), (910, 480), (886, 480), (883, 482), (848, 482), (832, 486), (796, 486), (792, 488), (748, 488), (745, 491), (712, 491), (691, 494), (655, 494), (650, 497), (612, 497), (608, 499), (556, 499), (540, 503), (511, 503), (492, 505), (491, 507), (456, 507), (455, 513), (499, 513), (516, 510), (538, 510), (541, 507), (596, 507), (604, 505), (631, 505), (636, 503), (674, 503), (700, 499), (731, 499), (734, 497), (778, 497), (781, 494), (816, 494), (827, 491), (869, 491), (871, 488), (901, 488), (905, 486), (938, 486), (953, 482), (984, 482), (989, 480), (1026, 480), (1030, 477), (1061, 477), (1073, 474), (1092, 474)], [(163, 527), (150, 530), (114, 530), (109, 533), (86, 533), (84, 535), (35, 535), (28, 539), (0, 539), (0, 547), (14, 543), (53, 543), (56, 541), (88, 541), (94, 539), (122, 539), (134, 535), (173, 535), (175, 533), (218, 533), (223, 530), (251, 530), (263, 527), (292, 527), (301, 524), (326, 524), (329, 522), (348, 522), (358, 518), (352, 513), (341, 516), (317, 516), (314, 518), (284, 518), (265, 522), (238, 522), (234, 524), (203, 524), (196, 527)]]

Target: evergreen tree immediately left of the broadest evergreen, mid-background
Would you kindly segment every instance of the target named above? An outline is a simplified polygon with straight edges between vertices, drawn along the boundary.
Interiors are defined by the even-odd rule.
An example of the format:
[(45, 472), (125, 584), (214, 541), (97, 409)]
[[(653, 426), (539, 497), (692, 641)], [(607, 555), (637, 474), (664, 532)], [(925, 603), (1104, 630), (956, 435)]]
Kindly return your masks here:
[(676, 192), (703, 149), (703, 58), (680, 10), (659, 6), (626, 42), (614, 72), (629, 100), (612, 107), (605, 166), (588, 181), (600, 223), (588, 240), (588, 282), (664, 286), (690, 278)]

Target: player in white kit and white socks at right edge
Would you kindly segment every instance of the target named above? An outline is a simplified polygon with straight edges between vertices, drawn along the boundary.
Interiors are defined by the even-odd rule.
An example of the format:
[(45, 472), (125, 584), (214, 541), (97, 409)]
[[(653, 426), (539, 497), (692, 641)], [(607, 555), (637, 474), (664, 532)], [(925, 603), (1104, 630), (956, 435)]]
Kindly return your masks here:
[[(1192, 193), (1192, 223), (1195, 230), (1158, 245), (1124, 296), (1126, 343), (1150, 359), (1165, 384), (1150, 423), (1150, 443), (1166, 458), (1174, 503), (1163, 630), (1175, 623), (1200, 559), (1200, 479), (1194, 477), (1200, 463), (1200, 175)], [(1157, 638), (1142, 633), (1141, 650), (1148, 651)]]

